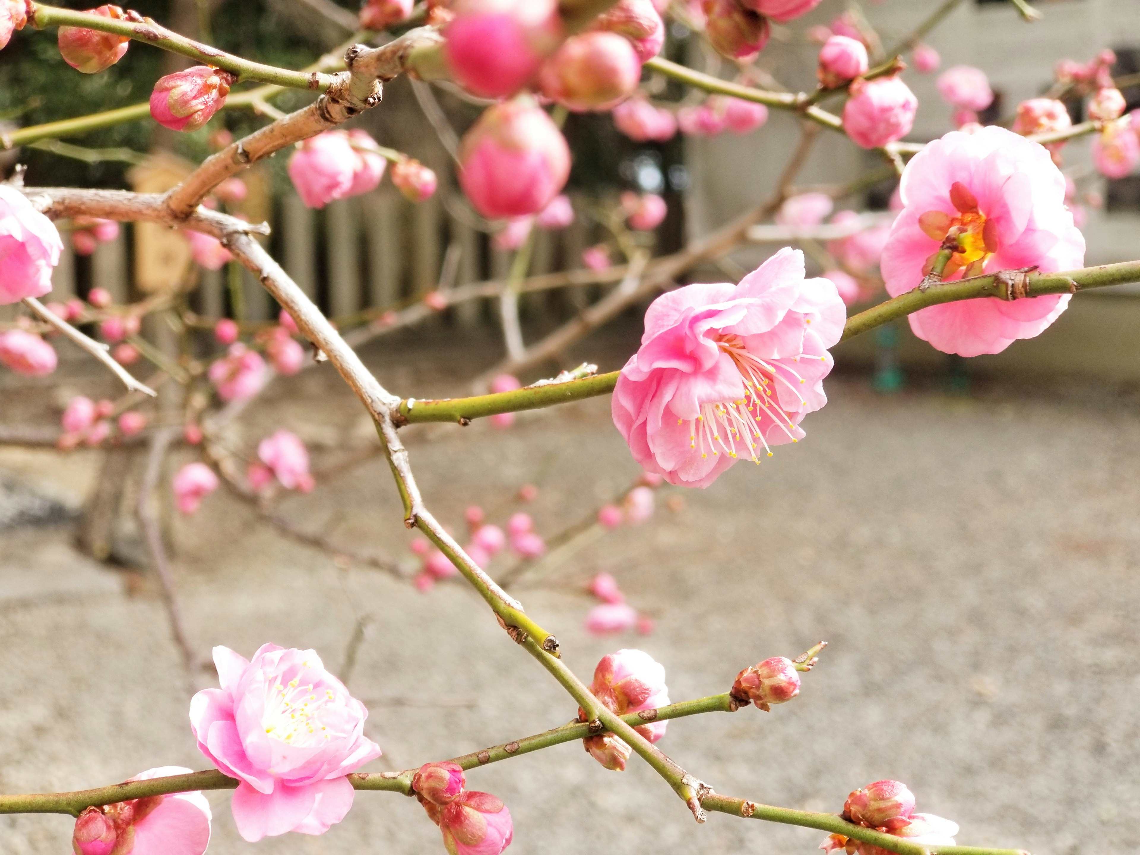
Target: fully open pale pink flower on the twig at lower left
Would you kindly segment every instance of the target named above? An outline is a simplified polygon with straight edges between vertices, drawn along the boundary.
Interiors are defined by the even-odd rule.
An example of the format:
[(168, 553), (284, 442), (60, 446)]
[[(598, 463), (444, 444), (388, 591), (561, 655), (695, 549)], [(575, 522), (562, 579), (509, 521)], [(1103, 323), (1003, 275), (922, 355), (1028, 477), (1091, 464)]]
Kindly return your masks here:
[(214, 648), (221, 689), (190, 701), (202, 751), (241, 783), (231, 809), (251, 842), (296, 831), (323, 834), (352, 807), (345, 777), (380, 757), (364, 735), (368, 710), (312, 650), (264, 644), (252, 661)]

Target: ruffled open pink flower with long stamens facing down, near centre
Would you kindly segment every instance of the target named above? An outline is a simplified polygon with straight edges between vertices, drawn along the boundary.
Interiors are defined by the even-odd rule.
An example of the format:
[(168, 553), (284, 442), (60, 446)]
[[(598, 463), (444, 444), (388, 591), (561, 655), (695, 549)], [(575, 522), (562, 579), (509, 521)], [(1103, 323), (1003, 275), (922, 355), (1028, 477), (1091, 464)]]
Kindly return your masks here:
[(613, 422), (648, 472), (708, 487), (741, 456), (797, 442), (799, 422), (828, 402), (828, 348), (847, 310), (828, 279), (804, 278), (783, 249), (740, 280), (659, 296), (641, 349), (621, 369)]

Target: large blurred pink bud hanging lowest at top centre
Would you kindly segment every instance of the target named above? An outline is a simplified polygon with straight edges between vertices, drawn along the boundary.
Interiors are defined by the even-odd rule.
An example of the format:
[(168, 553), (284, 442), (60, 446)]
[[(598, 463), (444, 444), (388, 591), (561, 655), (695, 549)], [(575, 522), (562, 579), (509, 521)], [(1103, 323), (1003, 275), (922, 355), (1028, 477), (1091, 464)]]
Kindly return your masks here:
[(459, 184), (487, 218), (542, 211), (570, 177), (570, 149), (534, 99), (488, 107), (464, 135)]

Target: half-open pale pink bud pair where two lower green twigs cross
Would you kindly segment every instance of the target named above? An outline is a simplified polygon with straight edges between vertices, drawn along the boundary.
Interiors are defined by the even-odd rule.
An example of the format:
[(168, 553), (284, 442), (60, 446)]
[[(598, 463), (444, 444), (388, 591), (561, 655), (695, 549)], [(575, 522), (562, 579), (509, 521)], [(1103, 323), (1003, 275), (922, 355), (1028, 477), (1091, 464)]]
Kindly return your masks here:
[[(629, 609), (622, 605), (602, 604), (598, 609)], [(633, 611), (629, 609), (629, 611)], [(629, 627), (636, 622), (637, 616)], [(629, 628), (627, 627), (627, 628)], [(593, 632), (593, 630), (592, 630)], [(641, 712), (645, 709), (657, 709), (669, 703), (669, 690), (665, 684), (665, 668), (649, 653), (640, 650), (619, 650), (602, 657), (594, 669), (594, 682), (589, 691), (608, 709), (624, 716), (627, 712)], [(579, 708), (578, 718), (585, 720), (585, 712)], [(668, 720), (643, 724), (636, 730), (650, 742), (657, 742), (668, 727)], [(629, 748), (624, 740), (613, 734), (587, 736), (583, 742), (586, 750), (605, 768), (621, 772), (625, 760), (629, 757)], [(619, 744), (620, 743), (620, 744)]]

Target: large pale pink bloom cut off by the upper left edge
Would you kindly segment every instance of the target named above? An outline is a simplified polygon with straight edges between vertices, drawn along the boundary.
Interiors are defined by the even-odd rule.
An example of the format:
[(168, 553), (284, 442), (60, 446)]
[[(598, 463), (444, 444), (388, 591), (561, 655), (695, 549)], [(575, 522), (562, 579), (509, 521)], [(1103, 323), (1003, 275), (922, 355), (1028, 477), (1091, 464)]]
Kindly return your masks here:
[(0, 306), (51, 291), (51, 268), (63, 251), (55, 223), (23, 193), (0, 184)]

